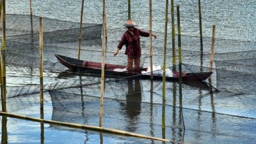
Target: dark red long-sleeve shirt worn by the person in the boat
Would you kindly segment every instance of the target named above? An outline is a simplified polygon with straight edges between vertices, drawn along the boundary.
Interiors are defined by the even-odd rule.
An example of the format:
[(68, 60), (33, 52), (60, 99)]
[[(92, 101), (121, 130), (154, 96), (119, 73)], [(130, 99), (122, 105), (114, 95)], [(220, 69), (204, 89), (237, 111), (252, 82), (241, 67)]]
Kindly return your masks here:
[(127, 30), (123, 35), (122, 39), (118, 44), (118, 48), (122, 48), (125, 45), (125, 55), (130, 58), (138, 58), (141, 57), (141, 44), (140, 44), (140, 36), (149, 37), (150, 33), (147, 33), (138, 28), (134, 28), (134, 35), (132, 35), (129, 30)]

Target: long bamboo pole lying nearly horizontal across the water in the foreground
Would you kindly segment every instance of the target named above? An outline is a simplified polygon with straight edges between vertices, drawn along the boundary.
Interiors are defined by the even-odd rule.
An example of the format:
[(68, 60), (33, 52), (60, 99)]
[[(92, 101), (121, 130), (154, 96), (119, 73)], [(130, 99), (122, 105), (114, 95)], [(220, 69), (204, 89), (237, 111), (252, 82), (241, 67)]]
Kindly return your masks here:
[(80, 124), (76, 124), (76, 123), (66, 123), (66, 122), (59, 122), (59, 121), (55, 121), (55, 120), (45, 120), (45, 119), (41, 119), (41, 118), (32, 118), (32, 117), (29, 117), (29, 116), (22, 116), (22, 115), (18, 115), (18, 114), (10, 114), (10, 113), (3, 112), (3, 111), (0, 111), (0, 115), (1, 116), (8, 116), (10, 118), (19, 118), (19, 119), (23, 119), (23, 120), (31, 120), (31, 121), (39, 122), (39, 123), (48, 123), (48, 124), (53, 124), (53, 125), (61, 125), (63, 127), (73, 127), (73, 128), (78, 128), (78, 129), (89, 129), (89, 130), (97, 131), (97, 132), (108, 132), (108, 133), (111, 133), (111, 134), (119, 134), (119, 135), (124, 135), (124, 136), (135, 136), (135, 137), (139, 137), (139, 138), (147, 138), (147, 139), (152, 139), (152, 140), (157, 140), (157, 141), (174, 142), (174, 141), (170, 141), (168, 139), (156, 138), (156, 137), (152, 137), (152, 136), (145, 136), (143, 134), (125, 132), (125, 131), (118, 130), (118, 129), (110, 129), (110, 128), (104, 128), (104, 127), (90, 126), (90, 125), (80, 125)]

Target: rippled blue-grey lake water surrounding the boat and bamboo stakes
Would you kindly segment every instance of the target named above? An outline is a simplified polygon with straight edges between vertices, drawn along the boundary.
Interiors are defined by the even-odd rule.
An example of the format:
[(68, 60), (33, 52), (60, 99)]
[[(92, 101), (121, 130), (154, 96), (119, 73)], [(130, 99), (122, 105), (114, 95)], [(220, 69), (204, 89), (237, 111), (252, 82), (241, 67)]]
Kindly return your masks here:
[[(32, 2), (33, 15), (44, 17), (44, 32), (47, 32), (44, 33), (44, 118), (99, 126), (100, 78), (63, 72), (66, 68), (54, 57), (54, 53), (77, 57), (78, 36), (73, 41), (76, 35), (72, 35), (72, 30), (79, 28), (81, 1)], [(150, 87), (149, 80), (106, 79), (103, 127), (166, 138), (175, 143), (255, 143), (256, 1), (202, 1), (203, 55), (200, 55), (198, 1), (175, 1), (175, 6), (177, 5), (180, 6), (181, 15), (184, 71), (209, 71), (212, 26), (216, 25), (216, 54), (211, 84), (221, 92), (211, 93), (202, 84), (194, 83), (182, 84), (182, 91), (179, 91), (179, 84), (167, 82), (166, 101), (163, 102), (163, 86), (160, 81), (154, 82)], [(163, 64), (165, 8), (166, 1), (152, 1), (152, 30), (157, 34), (157, 39), (152, 42), (155, 66)], [(168, 9), (170, 21), (170, 6)], [(136, 21), (138, 28), (148, 30), (148, 12), (148, 1), (131, 1), (131, 18)], [(38, 40), (35, 37), (35, 40), (31, 40), (29, 16), (26, 17), (30, 15), (29, 1), (6, 1), (6, 13), (7, 111), (40, 118), (40, 79), (36, 59)], [(34, 26), (38, 27), (36, 19), (38, 17), (34, 17)], [(106, 19), (106, 62), (125, 64), (124, 50), (117, 57), (113, 57), (113, 51), (125, 31), (123, 24), (127, 20), (127, 1), (106, 1)], [(175, 24), (176, 20), (175, 17)], [(102, 1), (85, 1), (83, 23), (86, 26), (102, 24)], [(169, 22), (168, 66), (172, 65), (170, 26)], [(92, 29), (85, 35), (96, 31)], [(62, 32), (67, 32), (67, 37), (62, 36)], [(47, 36), (50, 38), (47, 39)], [(61, 41), (63, 39), (65, 42)], [(101, 44), (93, 42), (95, 44), (89, 44), (90, 46), (83, 42), (81, 57), (100, 62)], [(149, 39), (142, 37), (141, 44), (143, 66), (149, 66)], [(164, 129), (163, 124), (166, 125)], [(7, 143), (6, 141), (162, 143), (48, 123), (40, 125), (29, 120), (6, 119), (1, 116), (1, 143)]]

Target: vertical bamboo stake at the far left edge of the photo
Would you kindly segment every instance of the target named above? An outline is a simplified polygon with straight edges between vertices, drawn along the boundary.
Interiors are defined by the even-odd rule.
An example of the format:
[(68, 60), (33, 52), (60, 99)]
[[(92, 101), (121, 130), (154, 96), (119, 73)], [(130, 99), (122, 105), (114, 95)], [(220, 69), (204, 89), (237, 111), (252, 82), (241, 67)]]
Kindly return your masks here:
[(1, 47), (1, 53), (2, 53), (2, 62), (1, 65), (2, 68), (2, 88), (1, 94), (2, 94), (2, 104), (3, 104), (3, 111), (6, 111), (6, 0), (1, 0), (1, 21), (2, 21), (2, 47)]

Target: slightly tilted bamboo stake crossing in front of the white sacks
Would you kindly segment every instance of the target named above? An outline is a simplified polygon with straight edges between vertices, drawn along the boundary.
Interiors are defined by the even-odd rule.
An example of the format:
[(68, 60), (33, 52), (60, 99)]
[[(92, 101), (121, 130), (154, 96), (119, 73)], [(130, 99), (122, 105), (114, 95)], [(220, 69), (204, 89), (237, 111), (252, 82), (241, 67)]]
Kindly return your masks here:
[[(168, 24), (168, 0), (166, 0), (166, 24), (164, 33), (164, 51), (163, 51), (163, 105), (166, 105), (166, 45), (167, 45), (167, 25)], [(166, 128), (166, 120), (163, 115), (162, 129)]]

